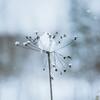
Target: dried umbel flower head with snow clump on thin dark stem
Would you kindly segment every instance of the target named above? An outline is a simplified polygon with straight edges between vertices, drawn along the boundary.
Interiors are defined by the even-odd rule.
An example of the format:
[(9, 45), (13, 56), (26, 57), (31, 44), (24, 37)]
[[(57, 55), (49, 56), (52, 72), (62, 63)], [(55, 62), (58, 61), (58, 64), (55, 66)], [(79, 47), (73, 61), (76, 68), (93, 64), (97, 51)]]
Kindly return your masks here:
[[(63, 73), (67, 72), (67, 68), (72, 67), (72, 65), (69, 63), (72, 60), (72, 57), (70, 55), (64, 56), (58, 51), (73, 44), (74, 41), (77, 40), (77, 37), (73, 37), (71, 40), (69, 40), (69, 42), (67, 42), (67, 44), (62, 44), (62, 41), (64, 39), (66, 40), (66, 38), (66, 34), (60, 35), (58, 32), (55, 32), (54, 34), (43, 33), (42, 35), (36, 32), (34, 37), (26, 36), (26, 42), (15, 42), (16, 46), (47, 54), (51, 100), (53, 100), (52, 80), (54, 79), (52, 70), (58, 72), (60, 70), (59, 67), (62, 66), (63, 71), (59, 71), (59, 74), (62, 75)], [(43, 71), (45, 71), (45, 68), (43, 68)]]

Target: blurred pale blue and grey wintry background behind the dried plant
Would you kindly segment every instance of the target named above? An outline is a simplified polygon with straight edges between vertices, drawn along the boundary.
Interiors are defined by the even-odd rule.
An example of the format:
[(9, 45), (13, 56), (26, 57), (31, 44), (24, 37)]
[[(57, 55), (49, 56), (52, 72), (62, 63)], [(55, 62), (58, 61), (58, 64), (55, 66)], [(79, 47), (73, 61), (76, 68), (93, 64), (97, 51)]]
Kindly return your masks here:
[(72, 68), (55, 75), (54, 100), (100, 100), (100, 0), (0, 0), (0, 100), (50, 100), (43, 55), (14, 42), (56, 31), (78, 40), (65, 50)]

